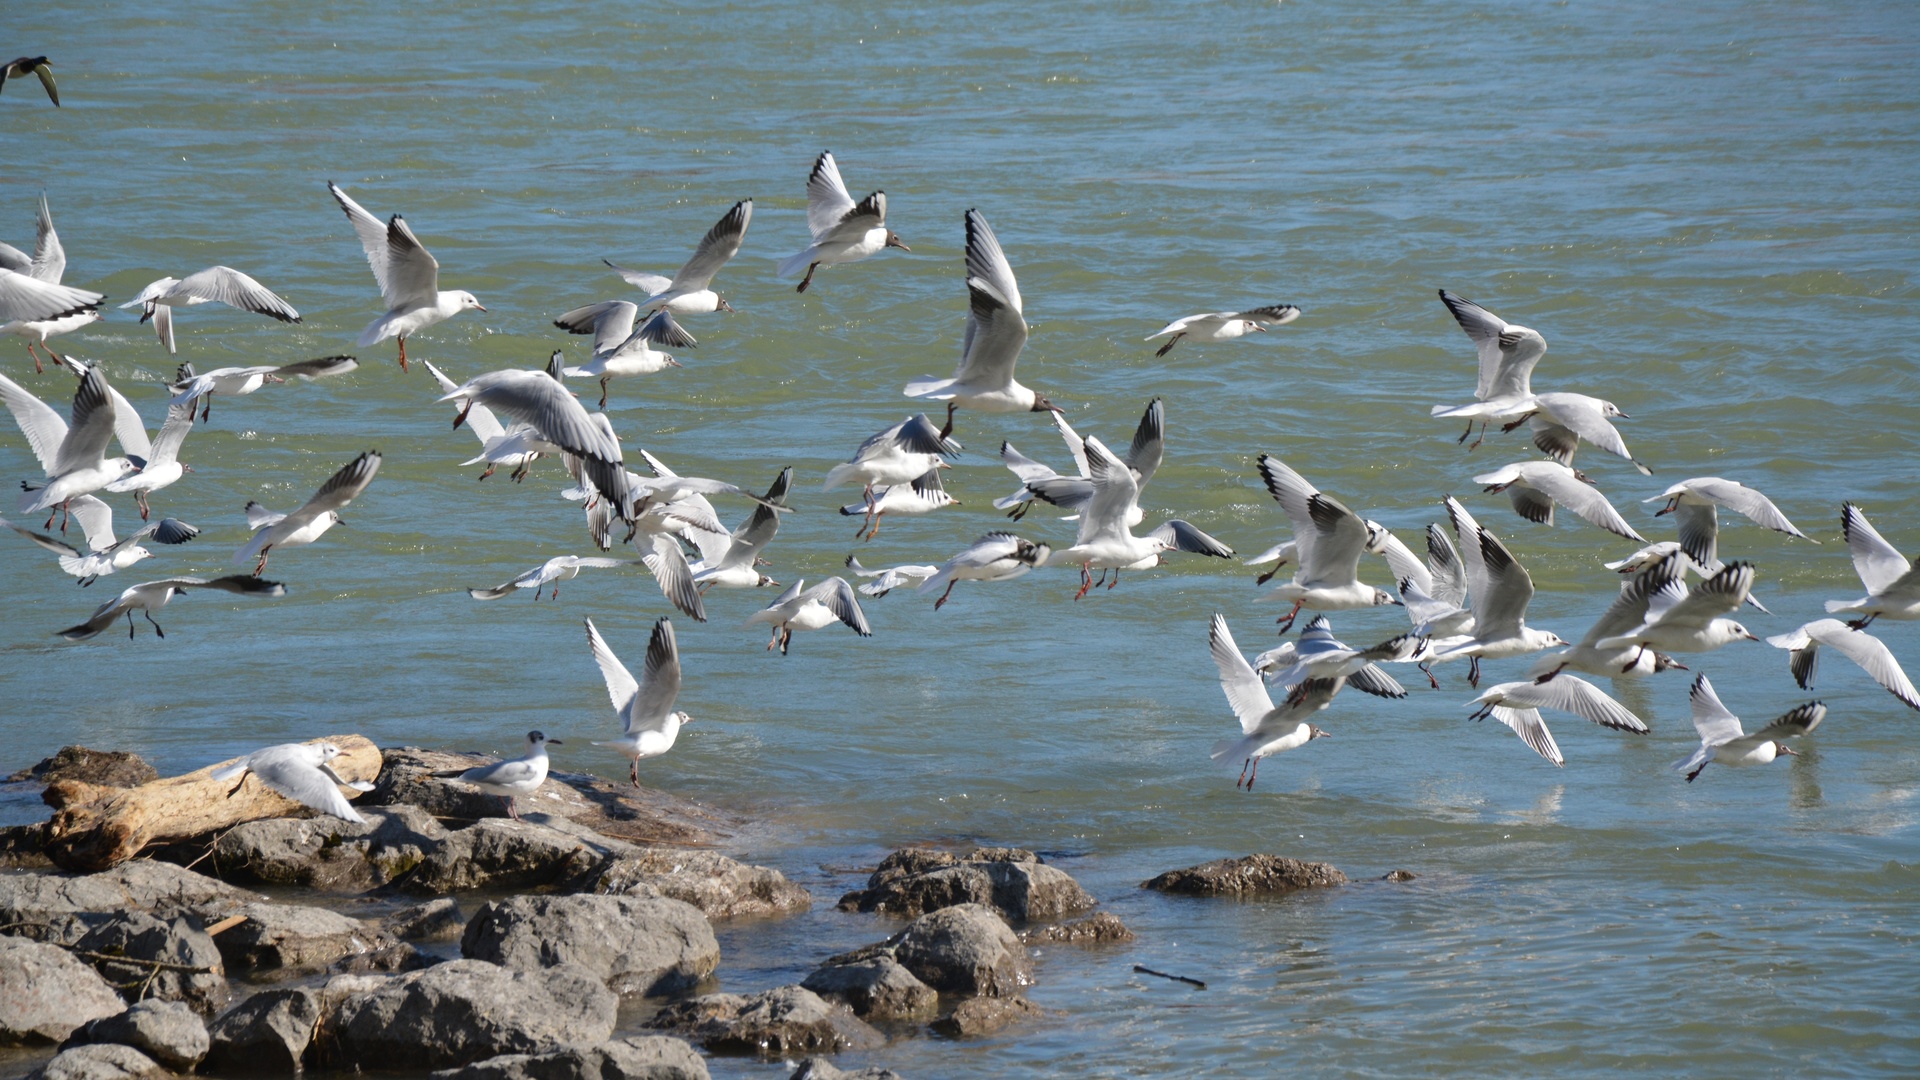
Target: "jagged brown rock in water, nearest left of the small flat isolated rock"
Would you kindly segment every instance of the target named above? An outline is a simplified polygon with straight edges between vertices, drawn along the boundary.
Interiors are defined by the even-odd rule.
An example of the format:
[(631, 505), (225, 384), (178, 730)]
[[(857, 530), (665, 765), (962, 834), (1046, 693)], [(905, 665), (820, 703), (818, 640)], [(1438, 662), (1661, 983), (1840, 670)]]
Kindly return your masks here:
[(912, 919), (956, 903), (985, 903), (1008, 919), (1058, 919), (1087, 911), (1094, 899), (1020, 847), (977, 847), (964, 857), (906, 847), (881, 859), (866, 888), (843, 896), (839, 907)]

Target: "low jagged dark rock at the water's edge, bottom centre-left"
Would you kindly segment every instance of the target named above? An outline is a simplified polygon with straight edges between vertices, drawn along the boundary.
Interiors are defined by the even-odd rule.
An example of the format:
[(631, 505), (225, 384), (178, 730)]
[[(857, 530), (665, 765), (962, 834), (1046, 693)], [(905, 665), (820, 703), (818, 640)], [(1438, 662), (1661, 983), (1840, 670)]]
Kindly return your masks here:
[(760, 1057), (868, 1049), (887, 1042), (845, 1005), (799, 986), (676, 1001), (649, 1024), (685, 1034), (714, 1053)]

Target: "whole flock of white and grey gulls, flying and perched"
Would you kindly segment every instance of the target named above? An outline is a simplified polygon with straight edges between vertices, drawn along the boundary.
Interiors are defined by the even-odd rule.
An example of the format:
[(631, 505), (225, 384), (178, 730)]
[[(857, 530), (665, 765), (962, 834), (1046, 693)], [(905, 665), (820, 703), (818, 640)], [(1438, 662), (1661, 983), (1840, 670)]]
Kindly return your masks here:
[[(27, 61), (15, 61), (8, 75), (40, 71), (52, 92), (44, 63), (15, 71), (21, 63)], [(382, 221), (338, 184), (328, 183), (326, 190), (351, 223), (384, 304), (384, 311), (361, 331), (357, 338), (361, 348), (392, 338), (401, 371), (409, 371), (409, 336), (463, 311), (486, 311), (470, 292), (440, 288), (438, 259), (401, 215)], [(826, 267), (854, 263), (889, 248), (910, 250), (887, 227), (885, 192), (876, 190), (854, 200), (831, 154), (822, 154), (814, 161), (806, 194), (808, 244), (778, 265), (781, 275), (801, 275), (799, 292), (806, 292)], [(616, 379), (660, 375), (680, 365), (668, 350), (695, 348), (695, 338), (680, 319), (733, 309), (714, 290), (714, 279), (741, 250), (751, 221), (753, 200), (735, 202), (672, 277), (609, 261), (607, 265), (624, 282), (639, 290), (639, 298), (582, 304), (553, 319), (561, 331), (591, 336), (591, 356), (582, 365), (566, 365), (563, 350), (555, 350), (541, 367), (488, 371), (457, 380), (440, 365), (424, 363), (438, 396), (422, 394), (422, 407), (430, 400), (451, 404), (453, 427), (465, 425), (480, 440), (480, 454), (461, 467), (484, 463), (480, 480), (505, 467), (518, 482), (534, 475), (541, 459), (553, 459), (570, 480), (561, 496), (578, 503), (591, 544), (599, 552), (632, 548), (632, 555), (551, 555), (507, 582), (470, 588), (474, 600), (499, 600), (518, 592), (528, 592), (534, 600), (545, 592), (549, 600), (557, 600), (561, 582), (572, 580), (584, 569), (645, 567), (678, 613), (705, 623), (712, 590), (781, 586), (762, 567), (770, 565), (768, 546), (780, 532), (781, 517), (799, 509), (789, 500), (793, 469), (781, 469), (764, 494), (726, 480), (680, 475), (647, 450), (624, 448), (605, 413)], [(1035, 569), (1062, 565), (1079, 571), (1073, 600), (1081, 600), (1094, 588), (1116, 588), (1125, 573), (1150, 571), (1171, 553), (1235, 557), (1231, 546), (1179, 517), (1140, 532), (1146, 528), (1140, 492), (1165, 457), (1165, 402), (1154, 398), (1146, 404), (1123, 454), (1110, 450), (1096, 434), (1077, 432), (1044, 394), (1016, 379), (1029, 329), (1020, 284), (1004, 248), (977, 209), (966, 211), (964, 233), (968, 307), (960, 363), (950, 379), (922, 377), (902, 390), (902, 396), (916, 404), (945, 404), (945, 421), (935, 423), (927, 413), (910, 413), (872, 434), (847, 461), (828, 471), (822, 490), (858, 486), (858, 502), (839, 505), (839, 511), (858, 517), (856, 536), (872, 540), (887, 515), (916, 517), (962, 505), (941, 479), (943, 471), (952, 469), (952, 457), (962, 452), (954, 440), (960, 411), (1044, 413), (1066, 444), (1071, 467), (1056, 471), (1023, 455), (1012, 442), (1002, 442), (1000, 461), (1018, 480), (1018, 488), (993, 500), (993, 505), (1018, 523), (1046, 503), (1062, 511), (1064, 521), (1073, 523), (1075, 536), (1071, 544), (1048, 544), (995, 528), (945, 561), (881, 569), (868, 569), (849, 555), (847, 571), (864, 582), (858, 588), (843, 577), (829, 577), (810, 588), (804, 580), (793, 580), (772, 603), (747, 617), (747, 625), (770, 628), (768, 650), (785, 655), (795, 630), (822, 630), (835, 625), (870, 638), (874, 628), (860, 607), (860, 598), (879, 600), (904, 586), (933, 598), (933, 609), (939, 611), (952, 600), (952, 590), (960, 582), (1006, 582)], [(0, 375), (0, 400), (12, 411), (44, 473), (23, 479), (19, 513), (46, 515), (38, 528), (31, 523), (0, 521), (0, 525), (58, 553), (65, 573), (81, 578), (81, 584), (92, 584), (152, 557), (142, 540), (165, 546), (184, 544), (200, 534), (200, 528), (173, 517), (150, 521), (150, 500), (192, 473), (180, 461), (182, 442), (196, 423), (209, 421), (215, 396), (244, 398), (290, 379), (326, 379), (353, 371), (359, 361), (349, 356), (328, 356), (288, 365), (225, 367), (207, 373), (196, 373), (190, 363), (182, 363), (175, 380), (163, 386), (165, 417), (159, 432), (150, 438), (134, 404), (108, 382), (102, 367), (71, 354), (60, 356), (48, 344), (50, 338), (96, 321), (104, 300), (98, 292), (61, 284), (63, 271), (65, 252), (60, 248), (52, 213), (42, 198), (35, 254), (0, 246), (0, 319), (6, 321), (0, 331), (27, 338), (36, 375), (44, 375), (40, 357), (44, 350), (46, 359), (69, 369), (79, 384), (71, 396), (69, 417), (63, 419), (40, 396)], [(1515, 513), (1528, 523), (1553, 525), (1555, 511), (1565, 509), (1642, 548), (1624, 559), (1603, 563), (1605, 569), (1622, 575), (1624, 582), (1592, 628), (1571, 642), (1551, 630), (1528, 626), (1532, 577), (1515, 550), (1476, 521), (1459, 500), (1452, 496), (1438, 500), (1442, 519), (1427, 527), (1421, 538), (1425, 553), (1417, 553), (1392, 530), (1315, 488), (1288, 463), (1261, 454), (1258, 477), (1279, 503), (1286, 536), (1244, 563), (1271, 565), (1256, 578), (1260, 586), (1281, 578), (1258, 600), (1288, 605), (1279, 619), (1283, 644), (1248, 661), (1223, 615), (1213, 615), (1208, 626), (1221, 688), (1240, 724), (1238, 738), (1221, 740), (1212, 755), (1227, 765), (1236, 763), (1238, 784), (1246, 790), (1252, 790), (1263, 757), (1329, 736), (1311, 721), (1327, 711), (1344, 688), (1405, 700), (1409, 696), (1405, 686), (1388, 675), (1392, 665), (1413, 665), (1428, 686), (1438, 688), (1434, 665), (1467, 661), (1467, 680), (1478, 690), (1482, 663), (1532, 657), (1524, 678), (1494, 684), (1467, 705), (1473, 709), (1471, 719), (1500, 721), (1553, 765), (1563, 765), (1565, 755), (1548, 730), (1542, 711), (1571, 713), (1609, 730), (1645, 734), (1647, 724), (1640, 717), (1582, 676), (1620, 680), (1657, 676), (1672, 669), (1686, 671), (1686, 665), (1674, 659), (1676, 653), (1711, 653), (1736, 642), (1761, 640), (1732, 619), (1741, 607), (1755, 607), (1761, 613), (1766, 613), (1766, 607), (1753, 598), (1755, 565), (1720, 559), (1718, 511), (1724, 507), (1764, 528), (1812, 540), (1761, 492), (1738, 480), (1699, 477), (1670, 484), (1645, 500), (1663, 503), (1655, 519), (1670, 517), (1678, 530), (1676, 540), (1649, 542), (1607, 500), (1594, 479), (1572, 465), (1580, 446), (1594, 446), (1624, 459), (1640, 475), (1651, 475), (1647, 465), (1628, 452), (1613, 423), (1626, 419), (1626, 413), (1611, 402), (1578, 392), (1536, 392), (1532, 379), (1548, 352), (1548, 342), (1538, 331), (1507, 323), (1448, 290), (1440, 290), (1440, 300), (1473, 342), (1476, 386), (1471, 404), (1436, 405), (1432, 415), (1465, 421), (1467, 430), (1459, 442), (1473, 436), (1473, 448), (1484, 444), (1496, 425), (1501, 432), (1526, 427), (1542, 454), (1536, 459), (1478, 473), (1473, 482), (1488, 494), (1505, 494)], [(213, 302), (284, 323), (300, 321), (300, 313), (273, 290), (225, 265), (184, 279), (159, 279), (121, 307), (138, 309), (142, 321), (154, 323), (167, 354), (175, 354), (175, 307)], [(1298, 317), (1300, 307), (1290, 304), (1198, 313), (1173, 319), (1146, 340), (1165, 338), (1156, 354), (1165, 356), (1181, 342), (1190, 346), (1233, 342)], [(595, 409), (568, 388), (568, 379), (599, 382)], [(121, 454), (109, 455), (115, 442)], [(641, 465), (645, 473), (630, 471), (630, 461)], [(250, 538), (232, 557), (244, 573), (142, 582), (60, 634), (69, 640), (92, 638), (125, 617), (132, 638), (134, 611), (138, 611), (157, 636), (165, 636), (154, 621), (154, 611), (190, 590), (219, 590), (248, 598), (284, 596), (282, 582), (263, 580), (269, 557), (323, 540), (342, 523), (340, 511), (376, 480), (380, 463), (378, 452), (361, 454), (340, 467), (303, 505), (286, 513), (250, 502), (244, 507)], [(102, 492), (132, 492), (142, 528), (125, 538), (115, 536), (111, 509), (102, 502)], [(710, 500), (722, 498), (751, 503), (741, 525), (730, 528), (720, 519)], [(56, 536), (56, 519), (61, 534), (69, 523), (77, 523), (84, 548)], [(1841, 527), (1866, 596), (1830, 601), (1828, 611), (1849, 615), (1853, 621), (1820, 619), (1768, 642), (1788, 651), (1789, 673), (1801, 688), (1812, 684), (1820, 650), (1832, 650), (1855, 661), (1903, 703), (1920, 709), (1920, 694), (1901, 673), (1893, 653), (1884, 642), (1866, 634), (1876, 619), (1920, 619), (1920, 575), (1872, 528), (1859, 507), (1851, 503), (1843, 507)], [(1384, 563), (1386, 577), (1375, 578), (1369, 557)], [(1361, 648), (1334, 636), (1331, 613), (1382, 607), (1398, 607), (1411, 625), (1398, 634), (1380, 634), (1384, 640)], [(1298, 636), (1288, 638), (1302, 615), (1309, 617), (1308, 625)], [(674, 709), (682, 688), (674, 626), (666, 617), (653, 625), (637, 680), (591, 621), (586, 623), (586, 630), (589, 653), (607, 682), (622, 728), (616, 740), (595, 746), (612, 748), (628, 757), (630, 778), (639, 784), (639, 763), (668, 753), (680, 730), (691, 723), (687, 713)], [(1701, 749), (1678, 765), (1688, 780), (1693, 780), (1707, 763), (1764, 765), (1791, 753), (1782, 740), (1809, 734), (1826, 713), (1816, 701), (1799, 705), (1784, 719), (1743, 734), (1740, 721), (1720, 705), (1705, 675), (1695, 678), (1690, 698)], [(515, 815), (513, 799), (530, 794), (545, 778), (549, 746), (559, 746), (559, 740), (536, 730), (528, 734), (522, 757), (447, 776), (503, 798), (507, 813)], [(228, 769), (225, 776), (252, 773), (273, 790), (323, 813), (357, 819), (340, 796), (338, 788), (344, 782), (328, 765), (336, 755), (338, 749), (330, 746), (267, 748)]]

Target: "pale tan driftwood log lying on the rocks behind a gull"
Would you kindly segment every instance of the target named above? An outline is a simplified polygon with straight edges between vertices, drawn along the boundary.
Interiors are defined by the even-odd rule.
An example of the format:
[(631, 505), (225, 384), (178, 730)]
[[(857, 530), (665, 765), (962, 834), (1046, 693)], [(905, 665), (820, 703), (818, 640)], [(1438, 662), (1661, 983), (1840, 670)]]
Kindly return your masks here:
[[(332, 759), (334, 773), (348, 780), (372, 780), (380, 774), (380, 748), (363, 736), (330, 736), (340, 748)], [(81, 780), (54, 780), (46, 786), (46, 805), (54, 819), (46, 822), (46, 857), (65, 871), (96, 872), (138, 855), (148, 844), (190, 840), (232, 828), (244, 821), (290, 817), (305, 807), (259, 782), (248, 773), (242, 780), (215, 780), (213, 773), (238, 757), (207, 765), (184, 776), (148, 780), (138, 788), (104, 788)], [(359, 792), (344, 790), (346, 798)]]

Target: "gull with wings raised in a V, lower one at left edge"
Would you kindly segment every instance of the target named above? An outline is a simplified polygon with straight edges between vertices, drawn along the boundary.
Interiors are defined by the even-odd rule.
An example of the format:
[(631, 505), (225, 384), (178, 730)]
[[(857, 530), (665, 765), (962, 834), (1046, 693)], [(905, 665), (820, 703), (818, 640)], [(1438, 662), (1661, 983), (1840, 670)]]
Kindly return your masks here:
[[(27, 492), (19, 500), (21, 513), (65, 507), (73, 498), (98, 492), (144, 465), (131, 455), (106, 457), (121, 405), (115, 404), (115, 392), (98, 367), (88, 367), (81, 375), (81, 384), (73, 392), (71, 425), (6, 375), (0, 375), (0, 400), (13, 413), (21, 434), (27, 436), (27, 446), (40, 459), (40, 467), (46, 469), (44, 484), (21, 480), (21, 488)], [(140, 429), (138, 417), (131, 419), (131, 429)], [(140, 429), (140, 438), (146, 438), (144, 429)], [(48, 515), (46, 521), (52, 527), (54, 517)], [(63, 530), (65, 525), (61, 525)]]

